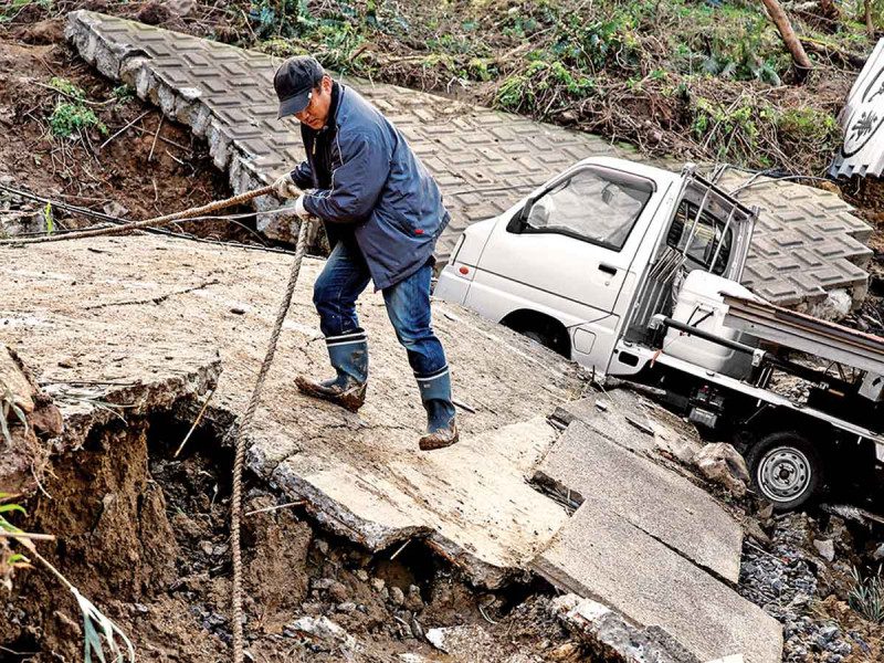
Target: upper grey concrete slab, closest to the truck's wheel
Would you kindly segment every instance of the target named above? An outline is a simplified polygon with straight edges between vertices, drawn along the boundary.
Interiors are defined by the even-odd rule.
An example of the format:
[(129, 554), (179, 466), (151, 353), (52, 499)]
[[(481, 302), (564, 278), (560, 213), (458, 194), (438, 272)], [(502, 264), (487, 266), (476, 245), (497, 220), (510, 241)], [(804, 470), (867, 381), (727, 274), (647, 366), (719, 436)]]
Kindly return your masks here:
[(571, 423), (537, 473), (579, 492), (585, 504), (621, 516), (719, 578), (739, 579), (743, 530), (715, 498), (587, 424)]

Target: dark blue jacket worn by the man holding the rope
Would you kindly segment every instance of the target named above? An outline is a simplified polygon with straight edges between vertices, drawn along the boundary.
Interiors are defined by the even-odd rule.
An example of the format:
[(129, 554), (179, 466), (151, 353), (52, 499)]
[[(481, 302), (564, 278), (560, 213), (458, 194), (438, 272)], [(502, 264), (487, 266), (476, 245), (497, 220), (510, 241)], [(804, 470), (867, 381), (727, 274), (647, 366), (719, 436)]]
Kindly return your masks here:
[[(306, 125), (302, 136), (307, 160), (292, 172), (304, 209), (326, 223), (352, 224), (354, 235), (377, 290), (421, 269), (449, 222), (442, 193), (404, 137), (351, 87), (336, 85), (328, 123), (329, 154), (316, 154), (320, 131)], [(330, 167), (320, 187), (317, 159)], [(323, 165), (325, 165), (323, 164)]]

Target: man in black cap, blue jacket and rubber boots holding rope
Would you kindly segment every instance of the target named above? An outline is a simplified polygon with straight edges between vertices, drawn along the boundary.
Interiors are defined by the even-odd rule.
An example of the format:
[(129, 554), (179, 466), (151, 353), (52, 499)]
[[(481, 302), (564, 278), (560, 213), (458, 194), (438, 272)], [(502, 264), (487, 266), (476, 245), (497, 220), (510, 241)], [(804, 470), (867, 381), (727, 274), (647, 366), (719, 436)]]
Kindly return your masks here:
[[(442, 194), (406, 139), (350, 87), (313, 57), (292, 57), (273, 80), (280, 117), (294, 115), (307, 159), (275, 183), (294, 211), (323, 220), (332, 254), (313, 302), (336, 376), (298, 377), (298, 389), (350, 411), (365, 402), (368, 345), (356, 299), (373, 281), (383, 293), (427, 410), (423, 451), (457, 441), (451, 376), (430, 320), (433, 251), (449, 222)], [(301, 189), (304, 191), (301, 193)]]

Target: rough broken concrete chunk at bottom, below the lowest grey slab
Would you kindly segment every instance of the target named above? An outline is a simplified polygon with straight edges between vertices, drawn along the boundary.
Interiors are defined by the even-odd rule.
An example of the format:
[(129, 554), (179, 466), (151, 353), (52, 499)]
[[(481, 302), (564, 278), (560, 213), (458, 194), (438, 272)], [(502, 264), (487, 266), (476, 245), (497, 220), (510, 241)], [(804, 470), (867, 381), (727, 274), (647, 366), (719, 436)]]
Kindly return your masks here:
[(567, 593), (555, 598), (550, 610), (600, 661), (701, 663), (665, 629), (636, 627), (592, 599)]

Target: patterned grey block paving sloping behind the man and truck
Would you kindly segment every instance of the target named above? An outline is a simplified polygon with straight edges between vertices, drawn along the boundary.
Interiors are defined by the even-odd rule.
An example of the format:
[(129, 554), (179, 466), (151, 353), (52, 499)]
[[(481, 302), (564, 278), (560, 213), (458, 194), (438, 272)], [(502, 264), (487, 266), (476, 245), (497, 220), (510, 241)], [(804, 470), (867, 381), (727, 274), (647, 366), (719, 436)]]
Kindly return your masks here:
[[(272, 76), (280, 59), (87, 11), (69, 15), (67, 36), (102, 73), (131, 84), (141, 98), (206, 135), (215, 164), (229, 168), (234, 192), (270, 182), (303, 159), (297, 123), (276, 119)], [(443, 261), (470, 223), (507, 210), (576, 161), (640, 158), (590, 134), (392, 85), (346, 83), (396, 123), (439, 181), (452, 213), (439, 242)], [(190, 115), (176, 101), (186, 91), (198, 105)], [(722, 182), (728, 188), (745, 180), (730, 171)], [(745, 276), (749, 287), (783, 305), (822, 299), (833, 287), (864, 292), (862, 267), (871, 251), (863, 242), (872, 230), (849, 204), (791, 182), (753, 185), (740, 199), (764, 210)], [(256, 206), (264, 211), (278, 202)], [(275, 219), (291, 232), (290, 220)], [(259, 228), (271, 236), (276, 232), (261, 215)]]

